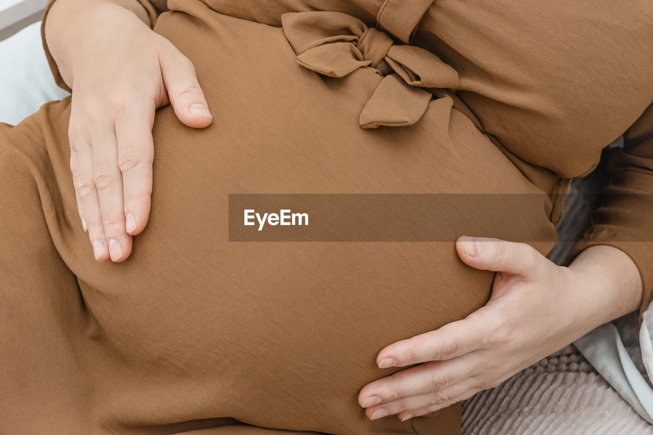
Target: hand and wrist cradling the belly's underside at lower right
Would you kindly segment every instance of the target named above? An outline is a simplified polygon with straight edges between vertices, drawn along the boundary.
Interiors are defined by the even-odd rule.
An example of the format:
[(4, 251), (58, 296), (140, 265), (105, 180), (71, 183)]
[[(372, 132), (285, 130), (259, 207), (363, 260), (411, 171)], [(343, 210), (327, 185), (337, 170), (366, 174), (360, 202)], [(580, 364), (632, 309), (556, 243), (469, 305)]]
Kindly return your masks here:
[[(554, 265), (527, 244), (492, 238), (461, 237), (456, 250), (467, 265), (497, 272), (492, 297), (465, 319), (381, 350), (379, 368), (419, 365), (362, 388), (358, 403), (368, 418), (396, 414), (405, 421), (495, 387), (594, 327), (637, 308), (637, 289), (624, 285), (636, 287), (639, 280), (641, 299), (637, 268), (626, 254), (609, 246), (589, 248), (569, 267)], [(618, 270), (637, 276), (615, 277), (616, 269), (602, 268), (597, 259), (617, 261)], [(615, 280), (616, 288), (607, 289)], [(596, 300), (603, 297), (602, 291), (621, 291), (615, 297), (625, 302)]]

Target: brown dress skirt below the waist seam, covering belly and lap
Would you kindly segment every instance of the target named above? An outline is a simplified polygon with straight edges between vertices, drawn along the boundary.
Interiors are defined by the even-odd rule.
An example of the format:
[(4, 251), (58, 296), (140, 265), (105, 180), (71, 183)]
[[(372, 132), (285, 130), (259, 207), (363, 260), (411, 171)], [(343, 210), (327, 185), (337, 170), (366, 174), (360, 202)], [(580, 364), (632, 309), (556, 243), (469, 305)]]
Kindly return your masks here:
[[(229, 242), (228, 194), (546, 194), (451, 97), (411, 127), (364, 130), (360, 112), (383, 81), (375, 69), (328, 81), (298, 65), (283, 28), (172, 6), (185, 13), (161, 14), (155, 30), (219, 105), (201, 131), (157, 112), (151, 220), (129, 261), (96, 263), (80, 229), (70, 100), (0, 130), (9, 432), (172, 433), (232, 417), (329, 434), (458, 433), (460, 406), (370, 421), (357, 395), (392, 373), (375, 366), (382, 347), (483, 306), (493, 274), (464, 266), (453, 240)], [(554, 240), (549, 209), (516, 216), (498, 204), (486, 231)]]

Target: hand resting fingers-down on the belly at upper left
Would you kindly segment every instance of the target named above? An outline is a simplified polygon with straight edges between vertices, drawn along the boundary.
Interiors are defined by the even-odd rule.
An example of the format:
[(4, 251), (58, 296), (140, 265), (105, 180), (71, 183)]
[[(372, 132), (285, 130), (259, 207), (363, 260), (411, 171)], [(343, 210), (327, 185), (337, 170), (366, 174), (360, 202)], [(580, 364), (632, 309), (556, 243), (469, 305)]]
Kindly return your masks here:
[(136, 0), (118, 1), (57, 0), (46, 20), (48, 48), (72, 88), (78, 211), (102, 262), (127, 259), (148, 222), (155, 109), (172, 104), (189, 127), (212, 121), (191, 61), (148, 27)]

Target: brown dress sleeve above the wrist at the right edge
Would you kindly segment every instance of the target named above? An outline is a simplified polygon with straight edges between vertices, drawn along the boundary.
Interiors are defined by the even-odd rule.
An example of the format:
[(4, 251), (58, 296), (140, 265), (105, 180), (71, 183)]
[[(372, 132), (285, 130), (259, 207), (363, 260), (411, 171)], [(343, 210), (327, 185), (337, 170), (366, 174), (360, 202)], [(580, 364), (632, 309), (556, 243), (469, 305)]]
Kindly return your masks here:
[(628, 254), (642, 276), (641, 320), (653, 298), (653, 104), (624, 134), (624, 148), (606, 157), (609, 180), (601, 206), (571, 255), (595, 245)]

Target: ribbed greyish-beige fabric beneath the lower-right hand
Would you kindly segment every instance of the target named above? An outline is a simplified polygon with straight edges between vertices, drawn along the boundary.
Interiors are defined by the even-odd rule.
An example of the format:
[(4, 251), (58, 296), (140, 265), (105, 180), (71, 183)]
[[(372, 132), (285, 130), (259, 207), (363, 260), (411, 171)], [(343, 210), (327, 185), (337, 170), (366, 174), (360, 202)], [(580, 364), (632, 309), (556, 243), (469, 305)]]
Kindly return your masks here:
[(573, 346), (466, 400), (463, 435), (653, 434)]

